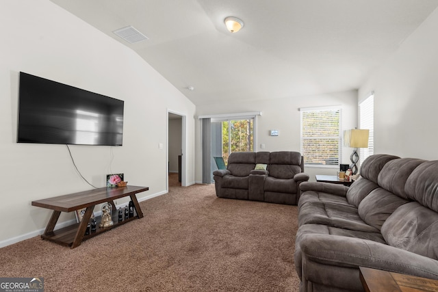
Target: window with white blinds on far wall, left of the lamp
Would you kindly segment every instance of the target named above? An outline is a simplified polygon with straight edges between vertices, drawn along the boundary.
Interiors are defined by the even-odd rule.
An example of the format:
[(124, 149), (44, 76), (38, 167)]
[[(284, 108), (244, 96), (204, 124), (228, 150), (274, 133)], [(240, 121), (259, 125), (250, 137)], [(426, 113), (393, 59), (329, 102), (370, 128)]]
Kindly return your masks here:
[(301, 155), (306, 165), (338, 165), (342, 157), (341, 107), (300, 109)]

